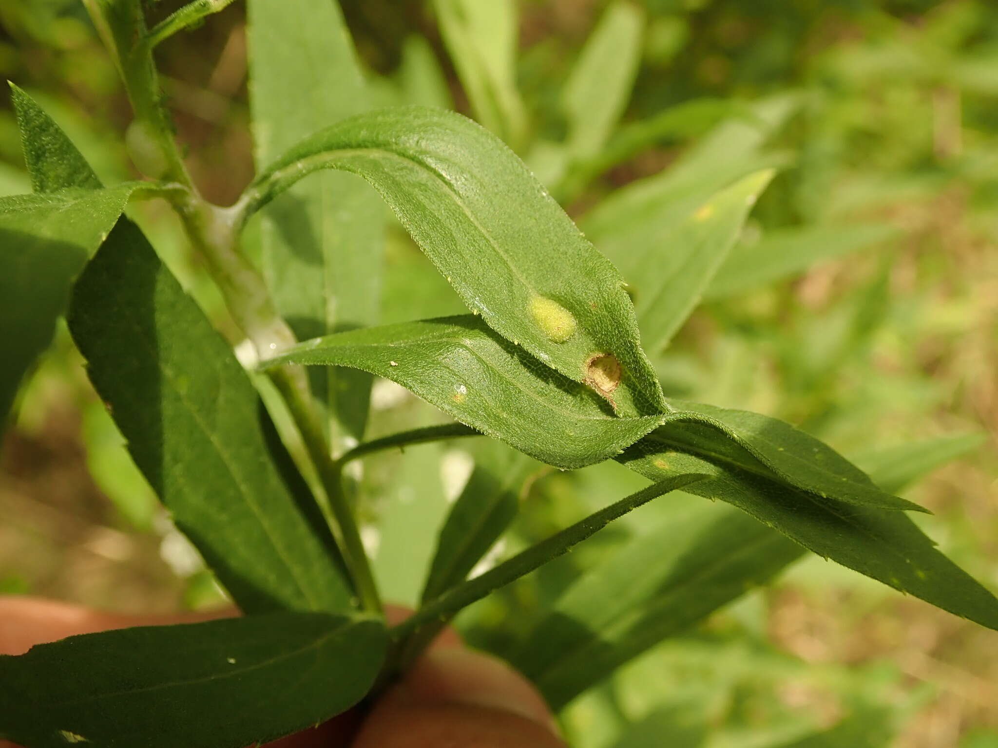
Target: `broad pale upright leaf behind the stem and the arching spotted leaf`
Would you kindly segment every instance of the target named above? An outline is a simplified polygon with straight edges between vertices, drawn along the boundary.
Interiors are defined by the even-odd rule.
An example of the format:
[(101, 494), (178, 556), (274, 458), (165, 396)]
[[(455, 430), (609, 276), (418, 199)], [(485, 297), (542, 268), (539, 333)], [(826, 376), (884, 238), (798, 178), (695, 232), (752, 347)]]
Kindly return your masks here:
[[(338, 3), (250, 0), (248, 11), (252, 133), (261, 168), (369, 103)], [(348, 174), (296, 185), (264, 210), (264, 275), (298, 339), (377, 322), (384, 219), (377, 194)], [(339, 451), (363, 436), (370, 377), (343, 369), (312, 374)]]

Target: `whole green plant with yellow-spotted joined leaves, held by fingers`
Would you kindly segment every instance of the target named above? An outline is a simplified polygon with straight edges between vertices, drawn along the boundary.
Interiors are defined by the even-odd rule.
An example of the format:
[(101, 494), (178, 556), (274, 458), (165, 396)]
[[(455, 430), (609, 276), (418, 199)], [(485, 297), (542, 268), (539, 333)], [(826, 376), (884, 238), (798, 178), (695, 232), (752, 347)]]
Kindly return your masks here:
[[(878, 487), (779, 421), (666, 398), (639, 344), (640, 323), (659, 361), (701, 296), (744, 280), (735, 262), (746, 255), (729, 253), (778, 166), (759, 146), (797, 106), (792, 96), (750, 108), (654, 183), (594, 209), (586, 230), (615, 267), (496, 136), (439, 109), (368, 112), (375, 87), (356, 67), (335, 6), (250, 0), (259, 175), (220, 207), (186, 172), (153, 48), (227, 4), (192, 3), (147, 29), (137, 0), (88, 3), (135, 110), (126, 143), (149, 181), (102, 187), (58, 127), (14, 91), (35, 193), (0, 203), (9, 268), (0, 324), (16, 344), (0, 406), (48, 344), (69, 293), (73, 338), (136, 464), (247, 616), (75, 637), (0, 659), (15, 694), (0, 711), (0, 735), (27, 746), (235, 746), (286, 734), (393, 677), (471, 602), (680, 489), (734, 508), (635, 539), (579, 577), (530, 631), (511, 634), (509, 656), (556, 707), (805, 549), (998, 627), (993, 595), (902, 514), (918, 508), (892, 496), (896, 478)], [(615, 3), (565, 89), (566, 138), (531, 142), (513, 82), (514, 35), (467, 45), (515, 28), (512, 4), (488, 4), (490, 17), (481, 17), (486, 4), (435, 5), (476, 115), (562, 197), (687, 118), (734, 111), (702, 102), (685, 117), (621, 131), (615, 143), (635, 75), (617, 50), (636, 44), (642, 23), (633, 6)], [(317, 57), (305, 61), (301, 47)], [(441, 96), (427, 83), (432, 71), (421, 80), (407, 90)], [(594, 117), (594, 101), (613, 107)], [(320, 170), (346, 174), (299, 182)], [(373, 326), (385, 216), (357, 177), (472, 314)], [(256, 370), (243, 369), (123, 215), (130, 199), (152, 197), (177, 209), (255, 349)], [(756, 258), (756, 277), (786, 272), (781, 258), (768, 255), (768, 269)], [(409, 280), (415, 292), (418, 277)], [(625, 289), (622, 277), (637, 282)], [(313, 365), (307, 377), (301, 364)], [(371, 374), (458, 423), (364, 442)], [(380, 450), (481, 435), (490, 441), (420, 580), (422, 604), (386, 629), (358, 529), (363, 486), (349, 466)], [(652, 485), (616, 503), (601, 497), (608, 506), (467, 578), (512, 521), (517, 490), (538, 463), (606, 461)], [(287, 699), (261, 709), (258, 694), (273, 682), (288, 684)]]

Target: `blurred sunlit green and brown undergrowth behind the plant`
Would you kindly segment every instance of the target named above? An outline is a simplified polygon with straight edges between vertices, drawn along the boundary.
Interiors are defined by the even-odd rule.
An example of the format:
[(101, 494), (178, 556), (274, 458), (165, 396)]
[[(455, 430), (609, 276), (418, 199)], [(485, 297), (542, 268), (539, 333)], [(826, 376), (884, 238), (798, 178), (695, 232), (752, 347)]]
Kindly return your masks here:
[[(179, 5), (161, 0), (149, 12)], [(703, 306), (667, 351), (650, 351), (669, 393), (786, 419), (861, 467), (906, 474), (957, 456), (906, 495), (935, 513), (915, 519), (943, 550), (998, 587), (998, 4), (644, 0), (622, 124), (605, 152), (583, 149), (573, 161), (561, 92), (605, 5), (520, 3), (522, 117), (506, 133), (598, 246), (633, 238), (603, 226), (640, 207), (650, 188), (640, 186), (665, 184), (658, 175), (674, 175), (682, 191), (682, 169), (716, 172), (723, 184), (733, 164), (780, 168)], [(429, 4), (342, 7), (386, 104), (472, 113)], [(251, 177), (242, 5), (157, 56), (195, 180), (228, 203)], [(37, 98), (102, 179), (136, 176), (123, 146), (128, 104), (78, 0), (0, 0), (0, 74)], [(0, 193), (29, 188), (4, 92)], [(169, 211), (134, 210), (231, 332)], [(386, 252), (383, 321), (461, 310), (403, 233)], [(781, 259), (760, 271), (760, 254)], [(385, 382), (373, 409), (372, 436), (440, 421)], [(470, 459), (466, 445), (436, 445), (365, 465), (375, 499), (362, 509), (381, 519), (371, 538), (389, 597), (412, 601)], [(120, 610), (218, 604), (65, 330), (23, 387), (0, 460), (0, 592)], [(502, 548), (579, 519), (635, 481), (615, 465), (540, 471)], [(684, 511), (635, 513), (475, 606), (461, 626), (502, 652), (607, 549)], [(587, 748), (994, 748), (998, 646), (993, 632), (807, 559), (628, 665), (571, 705), (565, 724)]]

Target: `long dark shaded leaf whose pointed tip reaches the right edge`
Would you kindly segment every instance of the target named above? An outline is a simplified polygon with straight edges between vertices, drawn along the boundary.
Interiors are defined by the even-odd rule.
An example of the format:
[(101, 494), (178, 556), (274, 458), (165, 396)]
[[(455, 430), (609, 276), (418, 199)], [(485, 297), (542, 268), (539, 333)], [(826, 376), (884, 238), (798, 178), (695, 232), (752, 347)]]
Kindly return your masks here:
[(998, 629), (998, 599), (933, 547), (903, 513), (868, 509), (794, 490), (734, 467), (678, 451), (672, 431), (629, 448), (619, 459), (649, 480), (703, 473), (686, 489), (728, 502), (818, 556), (988, 628)]

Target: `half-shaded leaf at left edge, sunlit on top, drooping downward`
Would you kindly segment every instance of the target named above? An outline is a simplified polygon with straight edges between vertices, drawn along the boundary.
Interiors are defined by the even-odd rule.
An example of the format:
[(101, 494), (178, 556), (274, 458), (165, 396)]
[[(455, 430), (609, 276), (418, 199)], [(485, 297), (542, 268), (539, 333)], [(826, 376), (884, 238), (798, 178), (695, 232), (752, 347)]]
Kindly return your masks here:
[(0, 420), (25, 372), (52, 342), (73, 277), (137, 187), (67, 187), (0, 198)]

